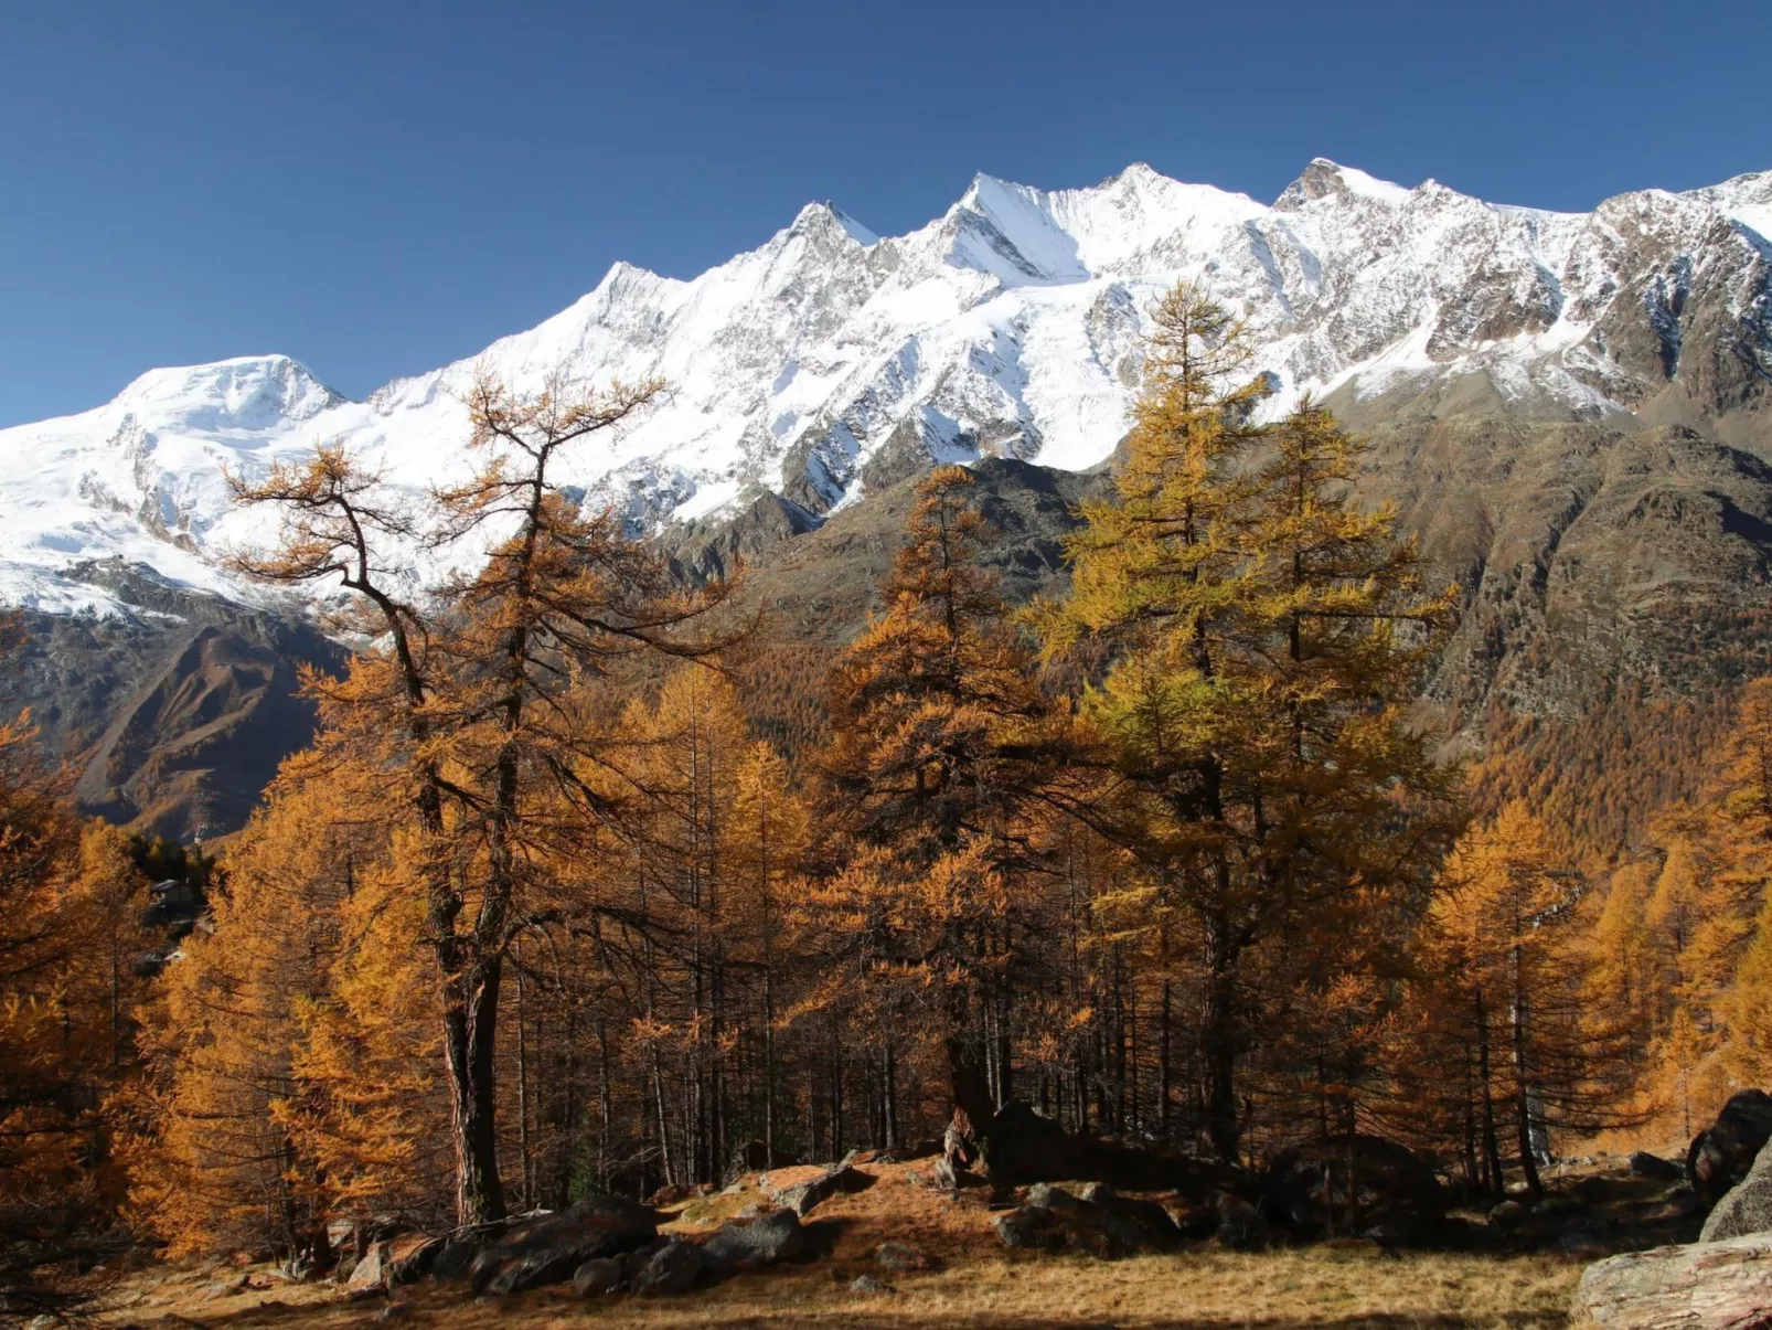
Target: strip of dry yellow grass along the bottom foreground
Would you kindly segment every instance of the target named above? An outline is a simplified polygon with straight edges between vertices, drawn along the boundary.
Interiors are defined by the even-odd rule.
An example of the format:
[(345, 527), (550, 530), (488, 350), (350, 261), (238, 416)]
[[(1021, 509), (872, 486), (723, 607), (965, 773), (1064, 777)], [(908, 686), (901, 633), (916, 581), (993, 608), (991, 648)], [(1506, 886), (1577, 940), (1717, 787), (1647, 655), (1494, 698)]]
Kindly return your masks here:
[[(835, 1271), (835, 1279), (833, 1279)], [(1396, 1256), (1304, 1248), (1242, 1256), (1200, 1252), (1131, 1261), (991, 1257), (929, 1275), (890, 1277), (895, 1293), (854, 1295), (858, 1270), (819, 1261), (741, 1275), (661, 1302), (585, 1303), (542, 1289), (498, 1305), (455, 1287), (413, 1289), (406, 1323), (468, 1330), (496, 1321), (519, 1330), (599, 1326), (1563, 1326), (1581, 1264), (1561, 1257)], [(376, 1325), (381, 1302), (344, 1303), (319, 1286), (206, 1300), (204, 1275), (119, 1309), (113, 1325), (168, 1321), (216, 1330)]]

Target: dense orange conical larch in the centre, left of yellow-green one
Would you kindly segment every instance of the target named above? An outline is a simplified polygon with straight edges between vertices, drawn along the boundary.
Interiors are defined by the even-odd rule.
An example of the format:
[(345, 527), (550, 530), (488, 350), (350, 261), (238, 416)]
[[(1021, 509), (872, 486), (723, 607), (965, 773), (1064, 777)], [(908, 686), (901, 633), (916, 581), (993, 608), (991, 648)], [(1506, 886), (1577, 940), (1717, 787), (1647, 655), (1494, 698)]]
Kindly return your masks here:
[(960, 466), (918, 484), (886, 610), (833, 672), (820, 837), (842, 858), (801, 911), (808, 945), (838, 961), (813, 1005), (865, 997), (888, 1080), (891, 1032), (932, 1030), (968, 1137), (1010, 1098), (980, 1016), (1017, 961), (1015, 878), (1049, 778), (1045, 700), (978, 564), (973, 488)]

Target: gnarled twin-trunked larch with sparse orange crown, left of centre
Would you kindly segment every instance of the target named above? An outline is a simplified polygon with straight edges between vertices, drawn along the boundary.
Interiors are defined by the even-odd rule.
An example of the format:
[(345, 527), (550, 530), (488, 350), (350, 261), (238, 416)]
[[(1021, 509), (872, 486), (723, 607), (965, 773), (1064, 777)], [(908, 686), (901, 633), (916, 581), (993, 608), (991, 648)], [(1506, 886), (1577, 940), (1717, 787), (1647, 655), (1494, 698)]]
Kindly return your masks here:
[[(556, 809), (595, 814), (578, 775), (585, 736), (560, 699), (636, 653), (695, 656), (677, 628), (721, 587), (680, 592), (666, 562), (633, 541), (613, 511), (583, 511), (562, 488), (574, 445), (608, 436), (661, 392), (551, 383), (517, 397), (480, 376), (466, 395), (482, 466), (436, 489), (416, 518), (342, 450), (239, 481), (241, 502), (284, 512), (278, 546), (241, 555), (271, 582), (337, 578), (381, 633), (347, 679), (315, 681), (321, 747), (397, 773), (386, 796), (408, 809), (408, 890), (425, 899), (420, 936), (436, 959), (443, 1064), (457, 1156), (457, 1217), (498, 1218), (498, 1014), (505, 961), (535, 922), (540, 864), (558, 855)], [(418, 537), (484, 562), (420, 598), (390, 587), (388, 562)], [(406, 578), (409, 583), (411, 578)]]

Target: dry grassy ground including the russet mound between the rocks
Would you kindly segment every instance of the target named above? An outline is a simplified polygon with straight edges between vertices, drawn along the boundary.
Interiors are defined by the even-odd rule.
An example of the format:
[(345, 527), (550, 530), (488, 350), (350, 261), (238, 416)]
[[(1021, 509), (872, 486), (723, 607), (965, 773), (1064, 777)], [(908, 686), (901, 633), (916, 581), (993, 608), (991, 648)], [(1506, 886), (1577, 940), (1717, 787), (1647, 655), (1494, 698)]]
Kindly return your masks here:
[[(422, 1284), (395, 1298), (351, 1302), (330, 1284), (280, 1280), (268, 1266), (156, 1264), (113, 1277), (101, 1319), (110, 1330), (346, 1330), (388, 1319), (413, 1330), (517, 1330), (567, 1326), (1462, 1326), (1568, 1325), (1581, 1271), (1604, 1248), (1680, 1240), (1671, 1188), (1632, 1179), (1621, 1160), (1593, 1160), (1550, 1179), (1558, 1224), (1575, 1218), (1607, 1231), (1570, 1243), (1547, 1218), (1506, 1234), (1464, 1215), (1442, 1250), (1386, 1252), (1372, 1243), (1315, 1245), (1258, 1254), (1196, 1245), (1189, 1250), (1099, 1261), (1005, 1250), (982, 1193), (948, 1197), (907, 1176), (916, 1165), (861, 1165), (874, 1185), (824, 1202), (808, 1218), (808, 1256), (739, 1275), (677, 1298), (579, 1300), (571, 1287), (477, 1302), (461, 1284)], [(797, 1174), (778, 1170), (774, 1185)], [(725, 1218), (764, 1202), (757, 1179), (730, 1193), (673, 1208), (668, 1231), (705, 1236)], [(920, 1273), (886, 1271), (881, 1241), (916, 1247), (936, 1261)], [(859, 1275), (884, 1293), (852, 1293)]]

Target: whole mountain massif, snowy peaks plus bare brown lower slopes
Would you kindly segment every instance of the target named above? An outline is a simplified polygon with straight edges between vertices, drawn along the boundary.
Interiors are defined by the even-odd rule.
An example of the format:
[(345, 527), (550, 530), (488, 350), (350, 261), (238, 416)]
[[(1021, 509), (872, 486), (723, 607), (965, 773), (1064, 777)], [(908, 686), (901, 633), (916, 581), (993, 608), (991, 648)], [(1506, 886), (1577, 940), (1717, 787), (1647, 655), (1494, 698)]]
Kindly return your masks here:
[[(1038, 589), (1178, 277), (1246, 314), (1267, 411), (1317, 392), (1372, 433), (1364, 488), (1471, 594), (1430, 690), (1460, 724), (1589, 715), (1620, 679), (1701, 693), (1765, 663), (1768, 231), (1772, 172), (1586, 215), (1322, 160), (1272, 206), (1141, 165), (1086, 190), (980, 176), (905, 236), (812, 204), (693, 280), (617, 264), (540, 326), (361, 403), (287, 356), (151, 371), (0, 431), (0, 603), (43, 644), (0, 700), (37, 704), (89, 807), (237, 825), (299, 739), (292, 663), (331, 647), (222, 569), (266, 530), (225, 473), (344, 440), (413, 493), (461, 475), (457, 394), (480, 369), (519, 392), (664, 378), (659, 408), (563, 479), (661, 530), (688, 578), (753, 562), (820, 651), (936, 461), (1003, 459), (985, 473), (1015, 527), (1005, 567)], [(422, 553), (416, 575), (478, 555)]]

